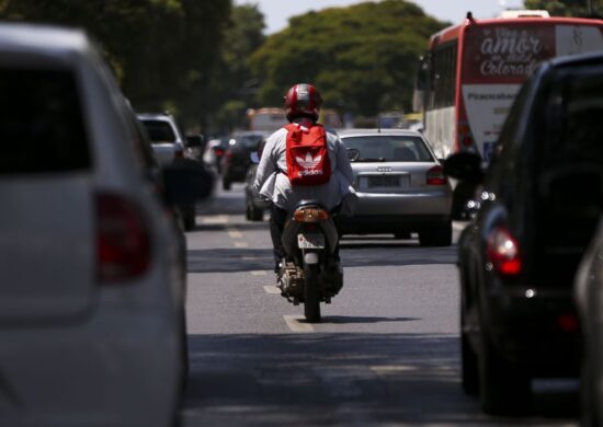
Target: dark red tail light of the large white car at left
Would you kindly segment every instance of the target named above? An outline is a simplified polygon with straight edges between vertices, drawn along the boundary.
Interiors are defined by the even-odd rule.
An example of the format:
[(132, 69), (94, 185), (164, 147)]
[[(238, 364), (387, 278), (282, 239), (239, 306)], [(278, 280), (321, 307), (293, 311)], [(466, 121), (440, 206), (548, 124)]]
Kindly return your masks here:
[(143, 275), (150, 258), (150, 239), (141, 210), (127, 198), (96, 195), (98, 278), (101, 282)]

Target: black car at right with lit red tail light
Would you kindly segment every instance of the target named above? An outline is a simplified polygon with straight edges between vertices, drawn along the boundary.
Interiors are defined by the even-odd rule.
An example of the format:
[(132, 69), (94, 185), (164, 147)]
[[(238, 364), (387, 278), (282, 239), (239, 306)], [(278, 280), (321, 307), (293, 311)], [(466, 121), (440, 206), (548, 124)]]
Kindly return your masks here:
[(527, 411), (532, 378), (579, 371), (572, 299), (603, 206), (603, 55), (538, 67), (517, 95), (486, 173), (477, 154), (446, 160), (480, 186), (458, 243), (463, 385), (490, 414)]

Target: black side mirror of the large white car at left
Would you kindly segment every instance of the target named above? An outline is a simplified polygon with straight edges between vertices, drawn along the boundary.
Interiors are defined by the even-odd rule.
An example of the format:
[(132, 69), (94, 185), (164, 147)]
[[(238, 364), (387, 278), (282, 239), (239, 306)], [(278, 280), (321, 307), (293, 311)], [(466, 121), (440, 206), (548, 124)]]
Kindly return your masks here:
[(193, 204), (212, 195), (214, 175), (197, 160), (177, 159), (162, 173), (168, 204)]

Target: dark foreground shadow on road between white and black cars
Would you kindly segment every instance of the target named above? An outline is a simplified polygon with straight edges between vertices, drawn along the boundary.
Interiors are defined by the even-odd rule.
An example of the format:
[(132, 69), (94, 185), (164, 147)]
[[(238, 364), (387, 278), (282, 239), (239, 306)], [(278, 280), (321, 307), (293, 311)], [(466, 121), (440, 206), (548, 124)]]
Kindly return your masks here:
[(457, 336), (190, 336), (184, 426), (567, 425), (576, 391), (530, 418), (492, 418), (459, 384)]

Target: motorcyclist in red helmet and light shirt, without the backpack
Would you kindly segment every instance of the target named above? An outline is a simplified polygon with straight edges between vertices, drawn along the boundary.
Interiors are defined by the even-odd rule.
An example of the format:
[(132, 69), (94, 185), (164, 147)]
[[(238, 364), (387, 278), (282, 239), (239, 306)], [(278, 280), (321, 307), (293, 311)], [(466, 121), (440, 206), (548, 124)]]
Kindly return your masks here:
[[(285, 114), (289, 123), (311, 127), (319, 117), (322, 99), (311, 84), (295, 84), (285, 95)], [(281, 128), (272, 134), (264, 146), (253, 187), (260, 195), (272, 200), (270, 234), (274, 246), (274, 272), (285, 256), (281, 236), (287, 215), (300, 200), (318, 200), (326, 208), (339, 208), (341, 215), (351, 215), (355, 204), (352, 187), (354, 174), (344, 143), (334, 132), (327, 130), (331, 177), (328, 183), (316, 186), (293, 186), (287, 176), (286, 140), (288, 130)], [(339, 247), (335, 247), (339, 262)]]

